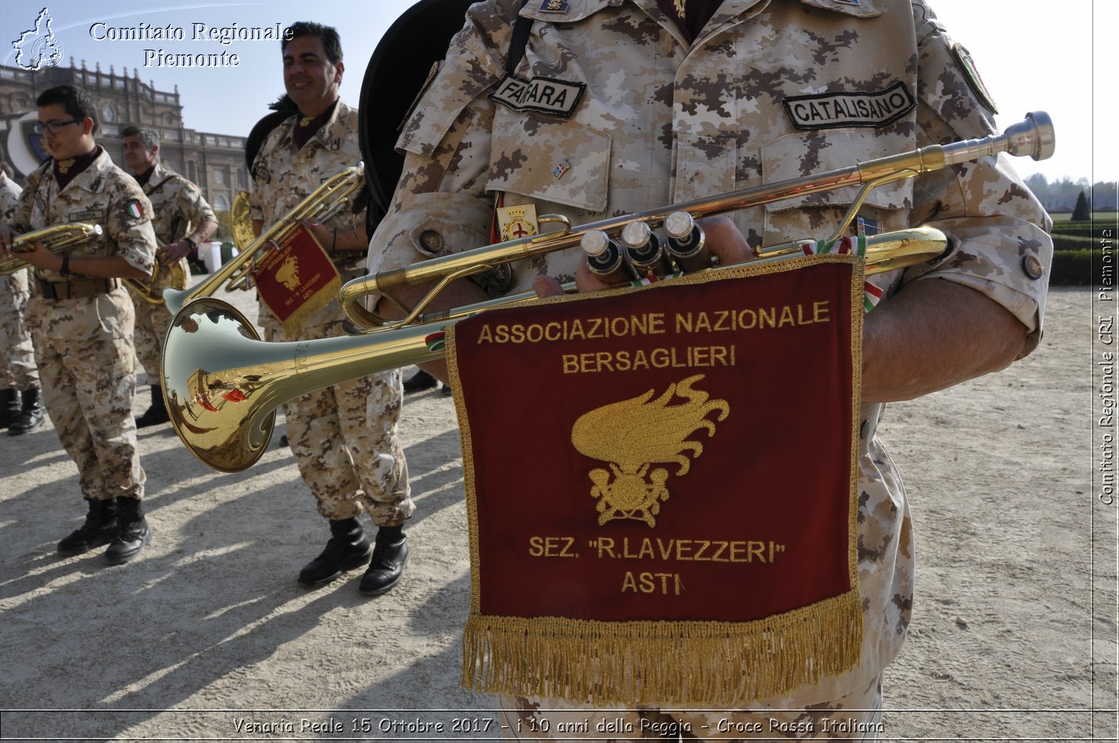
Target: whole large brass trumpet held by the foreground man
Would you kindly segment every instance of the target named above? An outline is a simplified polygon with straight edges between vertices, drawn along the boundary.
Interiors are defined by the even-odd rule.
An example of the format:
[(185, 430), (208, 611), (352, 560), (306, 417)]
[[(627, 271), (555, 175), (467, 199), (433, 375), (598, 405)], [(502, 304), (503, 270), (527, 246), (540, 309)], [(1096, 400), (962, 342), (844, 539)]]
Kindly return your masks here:
[[(408, 283), (433, 280), (439, 280), (442, 286), (492, 265), (573, 246), (590, 229), (617, 229), (639, 219), (659, 224), (658, 220), (678, 210), (693, 215), (716, 214), (805, 192), (865, 184), (856, 205), (843, 220), (846, 225), (854, 218), (857, 205), (865, 199), (869, 188), (1004, 151), (1031, 154), (1035, 159), (1050, 157), (1053, 130), (1049, 116), (1041, 112), (1029, 114), (1025, 122), (997, 137), (923, 148), (916, 152), (873, 160), (855, 169), (831, 171), (815, 179), (798, 179), (715, 196), (662, 210), (594, 223), (577, 231), (565, 226), (556, 236), (509, 241), (449, 258), (382, 272), (349, 282), (342, 288), (345, 298), (340, 299), (345, 307), (360, 310), (356, 318), (354, 314), (351, 318), (376, 325), (382, 322), (380, 318), (357, 305), (357, 301), (369, 291), (385, 292)], [(555, 222), (566, 225), (566, 219)], [(841, 227), (836, 235), (844, 229)], [(762, 248), (762, 260), (777, 261), (790, 254), (800, 255), (805, 242)], [(931, 227), (874, 235), (866, 242), (868, 274), (929, 261), (948, 247), (944, 234)], [(573, 289), (565, 286), (567, 291)], [(201, 298), (190, 302), (171, 321), (161, 365), (164, 402), (176, 433), (209, 467), (223, 472), (239, 472), (256, 462), (267, 448), (275, 423), (275, 408), (288, 399), (347, 379), (435, 360), (442, 356), (442, 350), (429, 347), (427, 339), (432, 333), (441, 332), (459, 319), (480, 311), (536, 300), (535, 294), (524, 293), (422, 314), (434, 291), (438, 289), (411, 309), (405, 320), (388, 327), (356, 336), (279, 344), (262, 342), (252, 323), (220, 300)]]

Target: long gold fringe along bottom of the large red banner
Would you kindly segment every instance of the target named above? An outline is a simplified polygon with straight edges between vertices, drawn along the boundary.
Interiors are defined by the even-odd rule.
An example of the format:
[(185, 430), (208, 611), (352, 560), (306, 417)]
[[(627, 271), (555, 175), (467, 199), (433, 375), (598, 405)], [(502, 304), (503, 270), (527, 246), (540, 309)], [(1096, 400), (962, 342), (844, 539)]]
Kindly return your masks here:
[(752, 622), (601, 622), (471, 612), (462, 686), (592, 705), (734, 708), (852, 669), (857, 590)]

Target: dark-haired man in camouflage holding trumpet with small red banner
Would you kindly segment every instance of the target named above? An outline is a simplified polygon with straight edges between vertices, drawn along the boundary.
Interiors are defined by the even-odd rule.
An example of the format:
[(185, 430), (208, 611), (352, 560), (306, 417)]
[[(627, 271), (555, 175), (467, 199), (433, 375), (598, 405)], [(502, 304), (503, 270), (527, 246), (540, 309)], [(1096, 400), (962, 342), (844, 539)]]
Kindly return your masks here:
[[(257, 235), (322, 180), (361, 160), (357, 110), (338, 97), (344, 70), (338, 32), (307, 22), (290, 30), (290, 40), (281, 46), (284, 85), (299, 113), (272, 131), (253, 162), (250, 208)], [(363, 273), (368, 243), (363, 215), (344, 211), (309, 227), (329, 253), (337, 254), (335, 263), (344, 282)], [(345, 335), (345, 319), (335, 299), (293, 336), (285, 335), (263, 304), (260, 322), (267, 340), (309, 340)], [(369, 563), (359, 591), (379, 595), (403, 576), (408, 558), (403, 525), (415, 506), (397, 436), (402, 396), (401, 373), (393, 370), (302, 395), (284, 405), (300, 473), (331, 532), (322, 554), (300, 572), (301, 584), (322, 585)], [(358, 520), (363, 510), (378, 527), (372, 546)]]

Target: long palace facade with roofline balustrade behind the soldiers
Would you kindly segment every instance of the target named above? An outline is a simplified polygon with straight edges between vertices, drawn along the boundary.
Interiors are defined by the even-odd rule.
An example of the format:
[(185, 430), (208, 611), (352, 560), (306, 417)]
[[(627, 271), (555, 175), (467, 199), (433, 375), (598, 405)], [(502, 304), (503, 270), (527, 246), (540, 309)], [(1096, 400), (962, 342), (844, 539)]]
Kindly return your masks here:
[(197, 184), (216, 210), (228, 210), (234, 195), (248, 189), (245, 138), (184, 128), (178, 86), (173, 93), (157, 91), (152, 83), (140, 81), (139, 70), (134, 69), (129, 77), (126, 68), (123, 75), (115, 74), (112, 67), (103, 73), (100, 63), (95, 69), (86, 69), (85, 60), (75, 67), (73, 57), (69, 67), (45, 67), (37, 72), (0, 66), (0, 156), (15, 167), (17, 180), (26, 175), (20, 162), (26, 163), (27, 156), (20, 158), (11, 152), (19, 135), (12, 130), (21, 126), (20, 116), (35, 112), (39, 93), (55, 85), (88, 91), (101, 124), (97, 143), (122, 168), (121, 130), (129, 124), (143, 124), (159, 130), (163, 163)]

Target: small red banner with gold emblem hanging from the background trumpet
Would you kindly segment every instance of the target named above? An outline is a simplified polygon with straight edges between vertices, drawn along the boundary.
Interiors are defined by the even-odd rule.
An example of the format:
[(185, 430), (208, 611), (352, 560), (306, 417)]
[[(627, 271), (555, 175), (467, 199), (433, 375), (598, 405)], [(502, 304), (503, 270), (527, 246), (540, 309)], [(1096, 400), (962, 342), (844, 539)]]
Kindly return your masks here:
[(294, 335), (303, 321), (341, 289), (338, 270), (314, 235), (295, 223), (252, 272), (261, 301)]

